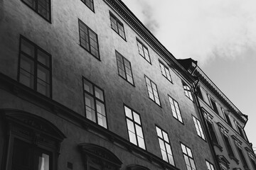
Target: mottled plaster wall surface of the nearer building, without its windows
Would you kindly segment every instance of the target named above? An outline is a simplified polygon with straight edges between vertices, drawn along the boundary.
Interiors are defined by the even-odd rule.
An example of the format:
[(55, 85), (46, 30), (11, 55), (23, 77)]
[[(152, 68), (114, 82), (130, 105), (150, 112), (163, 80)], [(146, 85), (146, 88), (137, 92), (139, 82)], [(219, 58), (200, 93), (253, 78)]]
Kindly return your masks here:
[[(24, 35), (52, 55), (53, 100), (84, 115), (82, 94), (82, 76), (84, 76), (105, 91), (109, 130), (128, 140), (123, 106), (125, 103), (141, 115), (147, 151), (161, 157), (155, 130), (155, 125), (159, 125), (169, 133), (174, 160), (179, 169), (186, 169), (180, 142), (192, 149), (198, 170), (206, 169), (205, 159), (213, 163), (213, 157), (210, 156), (208, 142), (196, 134), (192, 115), (200, 117), (195, 103), (190, 101), (183, 92), (181, 77), (170, 68), (173, 80), (171, 84), (161, 75), (159, 59), (164, 60), (156, 51), (152, 50), (144, 39), (104, 1), (95, 0), (94, 2), (95, 13), (80, 0), (52, 0), (52, 23), (48, 23), (22, 1), (0, 1), (1, 14), (3, 14), (0, 16), (0, 72), (16, 79), (19, 35)], [(109, 11), (124, 23), (126, 41), (110, 27)], [(80, 47), (78, 18), (97, 33), (101, 61)], [(136, 38), (149, 47), (151, 64), (139, 55)], [(115, 50), (131, 62), (135, 87), (119, 77)], [(149, 99), (144, 75), (156, 83), (161, 107)], [(183, 124), (173, 117), (168, 94), (178, 101)], [(8, 96), (8, 94), (5, 95)], [(149, 162), (137, 159), (129, 152), (113, 147), (109, 142), (36, 106), (20, 101), (15, 96), (9, 96), (7, 100), (1, 98), (1, 102), (3, 108), (18, 108), (41, 115), (60, 128), (68, 138), (63, 142), (59, 162), (75, 162), (80, 159), (76, 146), (80, 142), (92, 142), (107, 147), (125, 164), (138, 163), (156, 169), (150, 167)], [(77, 169), (82, 169), (81, 162), (75, 164)], [(59, 169), (63, 169), (64, 166), (65, 164), (60, 164)]]

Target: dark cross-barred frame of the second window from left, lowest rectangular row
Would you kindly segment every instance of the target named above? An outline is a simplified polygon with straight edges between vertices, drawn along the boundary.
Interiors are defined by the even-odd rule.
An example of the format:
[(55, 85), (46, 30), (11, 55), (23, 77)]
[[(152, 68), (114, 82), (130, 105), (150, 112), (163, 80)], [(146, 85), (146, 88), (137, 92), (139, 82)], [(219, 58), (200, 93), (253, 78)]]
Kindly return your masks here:
[[(92, 84), (92, 91), (93, 91), (93, 94), (90, 94), (90, 92), (88, 92), (88, 91), (85, 90), (85, 83), (84, 83), (84, 81), (88, 81), (90, 84)], [(103, 95), (104, 101), (101, 101), (100, 98), (97, 98), (97, 97), (95, 96), (95, 87), (96, 87), (97, 89), (100, 89), (100, 90), (102, 91), (102, 95)], [(94, 107), (95, 107), (95, 122), (94, 122), (93, 120), (90, 120), (89, 118), (87, 118), (87, 114), (86, 114), (86, 104), (85, 104), (85, 93), (86, 93), (87, 95), (89, 95), (90, 97), (93, 98)], [(87, 79), (87, 78), (85, 78), (85, 77), (82, 76), (82, 94), (83, 94), (83, 100), (84, 100), (85, 118), (86, 118), (87, 120), (90, 120), (90, 121), (92, 121), (93, 123), (99, 125), (99, 126), (102, 127), (102, 128), (108, 129), (108, 123), (107, 123), (107, 108), (106, 108), (106, 99), (105, 99), (104, 90), (103, 90), (102, 88), (100, 88), (100, 86), (97, 86), (96, 84), (92, 83), (92, 81), (90, 81), (89, 79)], [(98, 119), (98, 118), (97, 118), (97, 114), (98, 114), (98, 113), (97, 113), (96, 101), (100, 101), (100, 103), (102, 103), (102, 104), (104, 105), (104, 108), (105, 108), (106, 127), (104, 127), (104, 126), (102, 126), (102, 125), (100, 125), (100, 124), (98, 123), (98, 120), (97, 120), (97, 119)]]

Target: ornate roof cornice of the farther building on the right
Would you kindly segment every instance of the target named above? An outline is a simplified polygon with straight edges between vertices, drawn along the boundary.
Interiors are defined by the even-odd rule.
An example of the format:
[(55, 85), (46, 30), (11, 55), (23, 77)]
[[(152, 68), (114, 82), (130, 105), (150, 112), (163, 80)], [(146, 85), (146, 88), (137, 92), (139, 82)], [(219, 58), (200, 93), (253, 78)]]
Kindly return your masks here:
[(244, 125), (247, 123), (247, 115), (244, 115), (239, 111), (239, 109), (228, 99), (225, 94), (223, 94), (220, 89), (211, 81), (207, 75), (197, 67), (193, 73), (196, 77), (199, 78), (201, 83), (208, 87), (208, 89), (230, 110), (230, 112), (235, 115), (238, 120), (240, 120)]

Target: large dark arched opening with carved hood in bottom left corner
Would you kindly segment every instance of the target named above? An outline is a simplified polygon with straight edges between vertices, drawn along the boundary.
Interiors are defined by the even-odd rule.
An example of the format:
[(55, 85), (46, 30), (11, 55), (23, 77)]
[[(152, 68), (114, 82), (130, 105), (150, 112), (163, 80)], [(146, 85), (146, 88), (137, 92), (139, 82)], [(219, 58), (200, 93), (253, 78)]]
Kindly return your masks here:
[(3, 111), (8, 137), (6, 169), (56, 170), (65, 136), (44, 118), (23, 111)]

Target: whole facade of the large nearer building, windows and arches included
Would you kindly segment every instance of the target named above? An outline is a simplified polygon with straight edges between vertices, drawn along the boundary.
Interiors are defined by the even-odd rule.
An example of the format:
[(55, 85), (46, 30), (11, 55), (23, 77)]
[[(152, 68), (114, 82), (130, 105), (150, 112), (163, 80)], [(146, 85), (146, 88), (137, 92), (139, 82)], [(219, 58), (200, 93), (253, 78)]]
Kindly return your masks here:
[(197, 78), (122, 1), (0, 14), (1, 169), (219, 169)]

